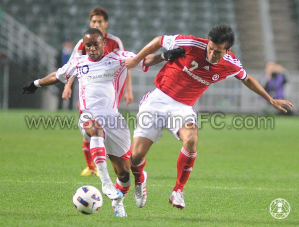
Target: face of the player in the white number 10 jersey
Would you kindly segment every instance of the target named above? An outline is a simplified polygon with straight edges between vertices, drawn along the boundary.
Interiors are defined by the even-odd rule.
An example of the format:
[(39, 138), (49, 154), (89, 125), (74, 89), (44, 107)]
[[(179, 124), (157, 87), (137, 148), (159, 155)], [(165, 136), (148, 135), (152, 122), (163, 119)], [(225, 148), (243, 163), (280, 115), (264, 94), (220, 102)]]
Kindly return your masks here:
[(83, 42), (86, 53), (91, 60), (97, 61), (104, 56), (106, 40), (103, 40), (99, 34), (84, 35)]

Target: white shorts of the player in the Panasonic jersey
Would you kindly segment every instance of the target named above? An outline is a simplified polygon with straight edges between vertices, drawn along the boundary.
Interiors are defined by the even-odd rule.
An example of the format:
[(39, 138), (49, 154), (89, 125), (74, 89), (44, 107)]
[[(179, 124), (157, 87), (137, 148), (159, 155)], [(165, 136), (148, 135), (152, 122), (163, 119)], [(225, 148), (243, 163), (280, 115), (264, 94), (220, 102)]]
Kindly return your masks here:
[(168, 129), (177, 139), (177, 132), (186, 123), (198, 126), (197, 114), (188, 106), (179, 103), (159, 89), (146, 94), (140, 102), (134, 137), (146, 137), (157, 142)]

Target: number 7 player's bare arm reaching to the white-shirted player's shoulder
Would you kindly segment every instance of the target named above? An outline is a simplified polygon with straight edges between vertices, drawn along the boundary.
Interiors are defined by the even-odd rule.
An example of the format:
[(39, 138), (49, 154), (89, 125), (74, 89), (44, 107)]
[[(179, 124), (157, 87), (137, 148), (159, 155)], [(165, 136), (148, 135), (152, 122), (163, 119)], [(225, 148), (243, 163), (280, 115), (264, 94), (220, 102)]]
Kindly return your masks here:
[(151, 54), (161, 48), (161, 39), (162, 39), (162, 36), (155, 37), (136, 55), (135, 58), (127, 59), (125, 62), (125, 65), (129, 69), (135, 68), (149, 54)]

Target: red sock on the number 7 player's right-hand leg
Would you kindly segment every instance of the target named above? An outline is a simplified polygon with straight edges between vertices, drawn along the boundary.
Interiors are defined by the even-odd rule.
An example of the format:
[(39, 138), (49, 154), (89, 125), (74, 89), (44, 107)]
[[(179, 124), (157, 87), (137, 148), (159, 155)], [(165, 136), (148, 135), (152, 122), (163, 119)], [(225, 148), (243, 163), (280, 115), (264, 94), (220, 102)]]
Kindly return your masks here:
[(192, 171), (196, 155), (197, 152), (191, 153), (182, 147), (176, 163), (177, 177), (173, 191), (183, 191)]

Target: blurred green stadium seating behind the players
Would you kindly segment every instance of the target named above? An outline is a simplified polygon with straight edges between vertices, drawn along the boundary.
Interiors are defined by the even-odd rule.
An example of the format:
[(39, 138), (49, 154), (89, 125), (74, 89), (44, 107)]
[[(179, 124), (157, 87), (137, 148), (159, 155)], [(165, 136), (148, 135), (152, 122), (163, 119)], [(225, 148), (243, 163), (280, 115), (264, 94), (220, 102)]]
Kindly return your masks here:
[[(65, 37), (81, 38), (93, 7), (107, 9), (108, 31), (134, 52), (161, 34), (206, 37), (215, 24), (229, 23), (236, 28), (232, 0), (2, 0), (2, 7), (57, 49)], [(240, 56), (238, 35), (234, 52)]]

